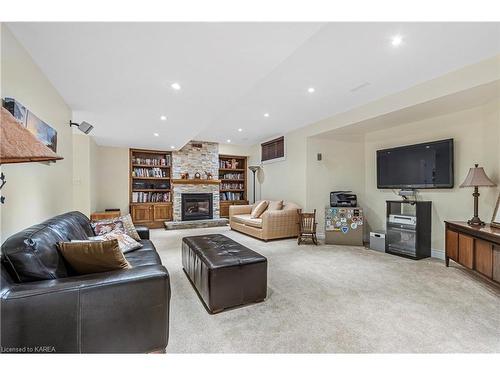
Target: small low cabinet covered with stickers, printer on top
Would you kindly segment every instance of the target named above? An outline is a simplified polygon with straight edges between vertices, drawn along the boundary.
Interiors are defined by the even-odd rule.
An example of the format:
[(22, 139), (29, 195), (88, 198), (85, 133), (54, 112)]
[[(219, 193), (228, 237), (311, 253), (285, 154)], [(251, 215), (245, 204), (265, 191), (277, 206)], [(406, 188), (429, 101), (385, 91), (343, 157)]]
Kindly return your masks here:
[(325, 208), (325, 243), (363, 246), (363, 227), (361, 207)]

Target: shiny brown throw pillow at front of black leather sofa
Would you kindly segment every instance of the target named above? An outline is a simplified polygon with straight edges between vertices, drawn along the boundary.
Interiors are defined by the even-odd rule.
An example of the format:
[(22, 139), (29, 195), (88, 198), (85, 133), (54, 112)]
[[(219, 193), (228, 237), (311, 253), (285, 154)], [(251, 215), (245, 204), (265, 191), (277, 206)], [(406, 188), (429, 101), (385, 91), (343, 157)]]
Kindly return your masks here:
[(59, 242), (57, 245), (64, 259), (81, 275), (132, 268), (117, 240)]

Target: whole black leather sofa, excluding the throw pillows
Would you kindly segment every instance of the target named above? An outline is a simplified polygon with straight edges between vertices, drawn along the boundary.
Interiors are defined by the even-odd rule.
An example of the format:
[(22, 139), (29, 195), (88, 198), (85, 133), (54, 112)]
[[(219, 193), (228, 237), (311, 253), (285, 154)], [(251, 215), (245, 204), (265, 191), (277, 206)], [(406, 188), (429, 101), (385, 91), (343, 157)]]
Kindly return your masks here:
[(125, 254), (131, 269), (76, 275), (59, 241), (93, 236), (89, 219), (69, 212), (8, 238), (1, 256), (4, 353), (148, 353), (168, 343), (170, 279), (149, 230)]

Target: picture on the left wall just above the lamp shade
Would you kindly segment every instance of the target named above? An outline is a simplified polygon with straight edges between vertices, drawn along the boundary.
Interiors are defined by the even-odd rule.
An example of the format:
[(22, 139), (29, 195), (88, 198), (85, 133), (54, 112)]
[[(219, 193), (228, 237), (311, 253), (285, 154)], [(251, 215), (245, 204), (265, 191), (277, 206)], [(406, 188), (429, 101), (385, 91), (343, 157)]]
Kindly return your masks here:
[(57, 131), (14, 98), (5, 98), (4, 107), (52, 151), (57, 152)]

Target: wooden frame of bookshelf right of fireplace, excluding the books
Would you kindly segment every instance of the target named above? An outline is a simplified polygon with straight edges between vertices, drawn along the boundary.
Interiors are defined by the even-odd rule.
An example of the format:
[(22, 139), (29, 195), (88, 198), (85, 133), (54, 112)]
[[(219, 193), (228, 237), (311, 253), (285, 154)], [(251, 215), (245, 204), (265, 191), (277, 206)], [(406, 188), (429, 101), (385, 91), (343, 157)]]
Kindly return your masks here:
[[(238, 168), (220, 168), (220, 161), (221, 160), (232, 160), (236, 159), (239, 161)], [(225, 179), (224, 175), (225, 173), (242, 173), (243, 174), (243, 179)], [(242, 192), (243, 193), (243, 199), (241, 200), (220, 200), (220, 216), (221, 217), (229, 217), (229, 206), (231, 205), (245, 205), (248, 204), (248, 199), (247, 199), (247, 192), (248, 192), (248, 157), (247, 156), (241, 156), (241, 155), (227, 155), (227, 154), (219, 154), (219, 180), (220, 180), (220, 193), (225, 193), (225, 192)], [(222, 185), (225, 183), (242, 183), (243, 184), (243, 189), (222, 189)]]

